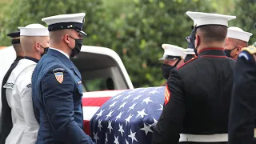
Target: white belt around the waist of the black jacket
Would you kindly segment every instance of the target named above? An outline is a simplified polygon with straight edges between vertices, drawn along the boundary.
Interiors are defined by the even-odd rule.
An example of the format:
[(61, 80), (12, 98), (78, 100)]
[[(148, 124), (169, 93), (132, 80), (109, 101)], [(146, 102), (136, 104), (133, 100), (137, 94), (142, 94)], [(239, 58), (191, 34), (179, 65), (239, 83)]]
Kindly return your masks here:
[(228, 142), (228, 134), (179, 134), (179, 142)]

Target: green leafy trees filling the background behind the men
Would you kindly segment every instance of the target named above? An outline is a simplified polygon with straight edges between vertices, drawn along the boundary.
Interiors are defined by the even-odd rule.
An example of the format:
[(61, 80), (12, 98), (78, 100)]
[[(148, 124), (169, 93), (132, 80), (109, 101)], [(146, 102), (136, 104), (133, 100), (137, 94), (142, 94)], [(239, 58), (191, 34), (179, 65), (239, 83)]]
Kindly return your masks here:
[[(238, 3), (238, 4), (237, 4)], [(18, 26), (55, 14), (86, 13), (84, 45), (105, 46), (122, 58), (134, 87), (159, 86), (162, 43), (186, 48), (192, 20), (186, 11), (237, 15), (230, 26), (253, 32), (255, 0), (12, 0), (0, 12), (0, 46)], [(249, 5), (248, 5), (249, 4)], [(235, 6), (235, 7), (234, 7)], [(46, 25), (45, 25), (46, 26)], [(253, 40), (255, 41), (255, 39)]]

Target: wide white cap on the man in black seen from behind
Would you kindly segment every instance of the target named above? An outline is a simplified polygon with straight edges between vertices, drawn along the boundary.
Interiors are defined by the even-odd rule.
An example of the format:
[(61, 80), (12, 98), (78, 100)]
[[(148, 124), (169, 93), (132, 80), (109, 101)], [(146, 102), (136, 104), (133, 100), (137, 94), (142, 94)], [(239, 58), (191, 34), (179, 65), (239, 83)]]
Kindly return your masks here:
[(194, 25), (205, 26), (205, 25), (222, 25), (228, 26), (228, 21), (236, 18), (231, 15), (223, 14), (210, 14), (202, 12), (187, 11), (186, 14), (194, 20)]

